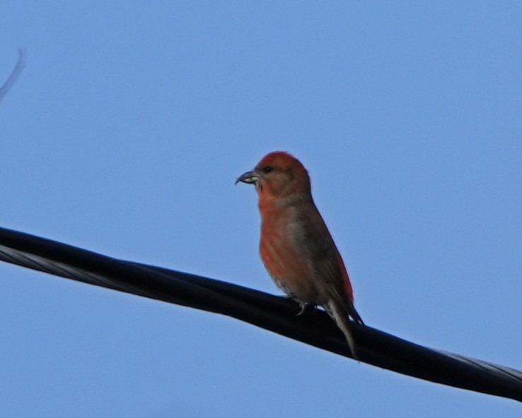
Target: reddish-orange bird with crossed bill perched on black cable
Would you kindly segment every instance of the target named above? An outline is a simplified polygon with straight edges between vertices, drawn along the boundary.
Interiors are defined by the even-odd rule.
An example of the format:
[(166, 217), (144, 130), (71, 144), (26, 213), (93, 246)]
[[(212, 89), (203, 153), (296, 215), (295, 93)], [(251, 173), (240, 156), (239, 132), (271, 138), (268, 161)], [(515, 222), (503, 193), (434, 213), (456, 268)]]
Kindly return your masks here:
[[(364, 325), (349, 275), (312, 198), (311, 180), (290, 153), (274, 151), (236, 179), (253, 184), (261, 215), (260, 258), (279, 289), (307, 306), (322, 306), (340, 328), (354, 359), (352, 326)], [(352, 318), (352, 321), (349, 318)]]

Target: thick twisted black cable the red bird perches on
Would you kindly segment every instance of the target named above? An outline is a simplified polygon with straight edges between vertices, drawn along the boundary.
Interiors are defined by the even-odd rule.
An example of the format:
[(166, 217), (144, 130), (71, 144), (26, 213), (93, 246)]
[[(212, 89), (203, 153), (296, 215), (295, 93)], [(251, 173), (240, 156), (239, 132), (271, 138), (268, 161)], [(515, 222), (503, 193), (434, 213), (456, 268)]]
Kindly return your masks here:
[[(122, 261), (74, 246), (0, 228), (0, 260), (90, 285), (223, 314), (306, 344), (351, 357), (344, 336), (324, 311), (284, 297), (153, 265)], [(354, 324), (361, 362), (448, 386), (522, 402), (522, 371), (432, 350)]]

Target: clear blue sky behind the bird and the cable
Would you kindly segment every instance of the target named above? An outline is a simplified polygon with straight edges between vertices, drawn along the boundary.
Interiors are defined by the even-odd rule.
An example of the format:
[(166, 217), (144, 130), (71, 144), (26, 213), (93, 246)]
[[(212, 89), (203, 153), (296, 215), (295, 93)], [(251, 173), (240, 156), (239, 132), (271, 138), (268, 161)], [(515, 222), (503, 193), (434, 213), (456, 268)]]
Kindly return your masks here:
[[(522, 369), (518, 1), (2, 1), (2, 227), (277, 293), (287, 150), (371, 326)], [(3, 417), (520, 417), (248, 326), (0, 264)]]

